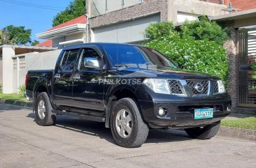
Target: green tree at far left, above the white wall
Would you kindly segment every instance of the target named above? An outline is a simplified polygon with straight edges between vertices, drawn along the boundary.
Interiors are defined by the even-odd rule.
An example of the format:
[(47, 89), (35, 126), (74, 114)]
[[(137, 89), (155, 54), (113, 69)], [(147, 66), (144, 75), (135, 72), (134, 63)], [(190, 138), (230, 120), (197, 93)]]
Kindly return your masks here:
[(25, 45), (31, 43), (31, 29), (9, 25), (0, 30), (0, 43), (4, 45)]

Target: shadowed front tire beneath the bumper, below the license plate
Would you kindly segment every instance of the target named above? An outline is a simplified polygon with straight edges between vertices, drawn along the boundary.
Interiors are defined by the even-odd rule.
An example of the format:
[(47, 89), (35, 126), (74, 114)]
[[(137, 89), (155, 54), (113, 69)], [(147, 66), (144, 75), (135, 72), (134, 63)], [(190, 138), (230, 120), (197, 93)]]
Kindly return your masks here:
[(206, 125), (203, 128), (186, 128), (185, 132), (192, 138), (195, 139), (211, 139), (214, 137), (220, 129), (220, 121), (211, 125)]

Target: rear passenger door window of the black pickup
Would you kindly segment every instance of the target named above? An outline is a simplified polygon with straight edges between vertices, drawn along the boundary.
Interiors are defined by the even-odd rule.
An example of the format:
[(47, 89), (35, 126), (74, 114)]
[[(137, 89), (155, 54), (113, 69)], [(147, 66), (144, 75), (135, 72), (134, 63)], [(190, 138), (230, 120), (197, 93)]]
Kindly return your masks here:
[(76, 58), (78, 56), (79, 49), (68, 50), (65, 52), (61, 67), (63, 70), (73, 70), (76, 65)]

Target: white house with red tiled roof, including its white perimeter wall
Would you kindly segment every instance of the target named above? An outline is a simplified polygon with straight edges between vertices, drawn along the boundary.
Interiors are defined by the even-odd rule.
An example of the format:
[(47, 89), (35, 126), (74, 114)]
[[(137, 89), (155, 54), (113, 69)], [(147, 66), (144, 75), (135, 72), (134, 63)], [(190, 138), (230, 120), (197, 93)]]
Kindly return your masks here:
[(59, 24), (37, 37), (45, 39), (36, 46), (0, 46), (0, 84), (3, 93), (17, 93), (24, 85), (28, 70), (52, 69), (59, 53), (65, 45), (87, 42), (85, 16)]

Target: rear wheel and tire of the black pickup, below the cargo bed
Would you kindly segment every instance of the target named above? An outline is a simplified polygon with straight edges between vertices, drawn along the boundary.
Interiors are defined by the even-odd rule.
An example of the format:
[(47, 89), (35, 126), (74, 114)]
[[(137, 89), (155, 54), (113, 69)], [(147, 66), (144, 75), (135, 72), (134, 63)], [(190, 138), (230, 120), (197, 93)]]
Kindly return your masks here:
[(36, 123), (41, 126), (55, 125), (56, 116), (52, 113), (52, 105), (48, 94), (42, 92), (36, 98)]

